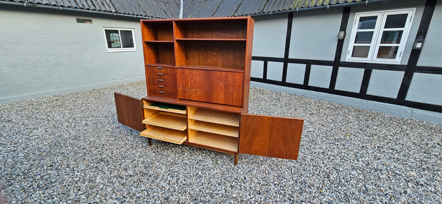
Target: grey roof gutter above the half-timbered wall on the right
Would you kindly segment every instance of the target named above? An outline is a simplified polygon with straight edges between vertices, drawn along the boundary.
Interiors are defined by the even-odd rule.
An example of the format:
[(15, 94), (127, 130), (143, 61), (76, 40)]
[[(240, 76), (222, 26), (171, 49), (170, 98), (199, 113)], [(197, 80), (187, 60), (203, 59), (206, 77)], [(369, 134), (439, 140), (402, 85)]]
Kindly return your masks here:
[(272, 16), (272, 15), (279, 15), (279, 14), (287, 14), (287, 13), (298, 13), (303, 11), (315, 11), (315, 10), (328, 10), (331, 8), (340, 8), (340, 7), (349, 7), (354, 5), (368, 5), (369, 3), (383, 3), (383, 2), (391, 2), (394, 0), (364, 0), (364, 1), (358, 1), (358, 2), (351, 2), (351, 3), (338, 3), (338, 4), (332, 4), (332, 5), (321, 5), (321, 6), (313, 6), (313, 7), (306, 7), (306, 8), (296, 8), (296, 9), (289, 9), (289, 10), (282, 10), (282, 11), (275, 11), (275, 12), (266, 12), (266, 13), (257, 13), (257, 14), (251, 14), (251, 17), (259, 17), (259, 16)]

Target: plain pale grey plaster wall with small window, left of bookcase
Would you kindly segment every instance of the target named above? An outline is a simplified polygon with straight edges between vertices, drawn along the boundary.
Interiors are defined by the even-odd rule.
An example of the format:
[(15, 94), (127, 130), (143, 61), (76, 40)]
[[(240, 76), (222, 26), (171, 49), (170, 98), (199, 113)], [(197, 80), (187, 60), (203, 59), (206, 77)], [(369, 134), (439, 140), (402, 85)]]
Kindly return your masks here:
[[(135, 29), (137, 51), (107, 52), (103, 27)], [(139, 20), (2, 7), (0, 28), (0, 103), (144, 79)]]

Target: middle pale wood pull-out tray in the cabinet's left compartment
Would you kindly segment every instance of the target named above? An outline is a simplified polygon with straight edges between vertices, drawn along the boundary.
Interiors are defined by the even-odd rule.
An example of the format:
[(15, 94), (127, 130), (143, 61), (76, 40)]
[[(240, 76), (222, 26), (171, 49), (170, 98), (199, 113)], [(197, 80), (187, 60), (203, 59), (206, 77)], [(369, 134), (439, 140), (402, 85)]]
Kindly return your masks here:
[(149, 118), (144, 119), (143, 123), (181, 131), (187, 128), (185, 116), (179, 116), (176, 114), (164, 112), (159, 112)]

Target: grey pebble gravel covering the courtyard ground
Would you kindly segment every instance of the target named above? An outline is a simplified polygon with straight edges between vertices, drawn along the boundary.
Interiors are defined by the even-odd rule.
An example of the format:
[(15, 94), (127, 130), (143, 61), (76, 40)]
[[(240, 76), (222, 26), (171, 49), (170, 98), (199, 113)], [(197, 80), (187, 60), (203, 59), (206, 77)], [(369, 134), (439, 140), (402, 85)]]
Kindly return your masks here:
[[(252, 87), (249, 113), (305, 118), (298, 161), (175, 145), (117, 122), (135, 82), (0, 105), (7, 203), (440, 203), (442, 125)], [(0, 202), (1, 203), (1, 202)]]

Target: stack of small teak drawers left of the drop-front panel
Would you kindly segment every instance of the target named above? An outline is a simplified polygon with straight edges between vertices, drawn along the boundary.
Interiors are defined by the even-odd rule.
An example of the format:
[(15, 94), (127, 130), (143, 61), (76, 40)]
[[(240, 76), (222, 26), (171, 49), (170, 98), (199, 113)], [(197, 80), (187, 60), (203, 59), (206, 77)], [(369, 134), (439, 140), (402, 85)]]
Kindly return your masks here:
[(175, 68), (147, 67), (148, 95), (177, 98), (177, 76)]

